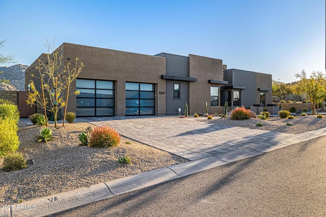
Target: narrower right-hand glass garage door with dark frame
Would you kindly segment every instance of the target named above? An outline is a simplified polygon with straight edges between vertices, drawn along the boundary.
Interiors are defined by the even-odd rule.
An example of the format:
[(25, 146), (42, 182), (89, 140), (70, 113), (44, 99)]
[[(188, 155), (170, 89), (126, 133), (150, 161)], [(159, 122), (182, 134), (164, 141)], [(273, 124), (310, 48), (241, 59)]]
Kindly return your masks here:
[(126, 115), (153, 115), (154, 84), (126, 82)]

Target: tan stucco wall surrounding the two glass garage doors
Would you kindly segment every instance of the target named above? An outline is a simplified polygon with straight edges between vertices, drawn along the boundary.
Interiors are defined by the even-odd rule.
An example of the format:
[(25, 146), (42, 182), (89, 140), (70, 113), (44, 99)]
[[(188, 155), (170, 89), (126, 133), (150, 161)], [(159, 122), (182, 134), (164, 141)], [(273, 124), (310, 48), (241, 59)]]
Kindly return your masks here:
[[(115, 115), (125, 115), (125, 82), (154, 83), (155, 115), (166, 114), (166, 97), (158, 94), (166, 91), (165, 80), (160, 78), (166, 74), (164, 57), (69, 43), (63, 44), (63, 55), (64, 64), (74, 63), (75, 57), (84, 63), (78, 78), (115, 81)], [(71, 92), (75, 89), (73, 82)], [(68, 110), (76, 111), (75, 96), (69, 98)]]

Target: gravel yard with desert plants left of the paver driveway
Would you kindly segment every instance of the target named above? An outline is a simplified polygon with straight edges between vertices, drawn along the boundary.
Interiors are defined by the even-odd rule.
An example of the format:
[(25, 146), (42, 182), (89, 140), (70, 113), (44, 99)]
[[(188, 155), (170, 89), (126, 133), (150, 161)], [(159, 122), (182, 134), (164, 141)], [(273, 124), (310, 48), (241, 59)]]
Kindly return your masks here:
[[(27, 169), (4, 172), (0, 170), (0, 204), (32, 200), (82, 187), (89, 187), (150, 170), (186, 162), (187, 160), (166, 151), (135, 141), (111, 148), (90, 148), (78, 145), (78, 134), (91, 126), (90, 123), (66, 123), (64, 128), (53, 129), (55, 139), (37, 143), (38, 126), (19, 123), (21, 141), (18, 152), (35, 165)], [(94, 126), (93, 126), (94, 127)], [(120, 164), (118, 159), (129, 156), (132, 164)], [(3, 158), (0, 158), (0, 167)]]

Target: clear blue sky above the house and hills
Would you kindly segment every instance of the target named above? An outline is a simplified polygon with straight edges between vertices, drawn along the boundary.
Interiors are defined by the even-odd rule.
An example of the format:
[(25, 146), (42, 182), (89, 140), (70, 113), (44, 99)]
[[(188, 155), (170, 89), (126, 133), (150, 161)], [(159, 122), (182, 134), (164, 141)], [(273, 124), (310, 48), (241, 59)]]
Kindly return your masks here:
[(62, 43), (223, 59), (292, 82), (325, 72), (325, 0), (0, 0), (2, 54), (31, 65)]

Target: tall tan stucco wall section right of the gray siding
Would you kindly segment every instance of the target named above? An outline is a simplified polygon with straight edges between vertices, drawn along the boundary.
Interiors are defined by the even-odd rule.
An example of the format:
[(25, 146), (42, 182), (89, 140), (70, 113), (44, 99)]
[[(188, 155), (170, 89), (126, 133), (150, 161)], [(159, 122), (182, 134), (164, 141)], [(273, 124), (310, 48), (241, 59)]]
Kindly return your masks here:
[[(222, 59), (189, 54), (189, 77), (197, 78), (197, 81), (189, 82), (189, 114), (205, 112), (205, 102), (209, 113), (220, 112), (219, 106), (210, 106), (210, 86), (220, 87), (220, 85), (210, 84), (208, 80), (223, 80), (222, 65)], [(220, 101), (221, 94), (219, 105)]]

